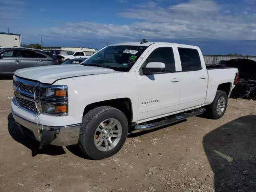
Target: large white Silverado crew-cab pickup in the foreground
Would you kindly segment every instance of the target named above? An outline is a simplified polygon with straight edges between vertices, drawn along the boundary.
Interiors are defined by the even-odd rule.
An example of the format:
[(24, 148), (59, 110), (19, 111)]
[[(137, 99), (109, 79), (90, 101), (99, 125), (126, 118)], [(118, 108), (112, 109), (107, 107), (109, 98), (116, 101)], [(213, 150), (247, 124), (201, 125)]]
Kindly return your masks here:
[(128, 130), (149, 130), (205, 112), (218, 119), (236, 68), (206, 69), (200, 48), (162, 42), (107, 46), (80, 65), (17, 70), (11, 108), (43, 145), (78, 144), (92, 159), (118, 152)]

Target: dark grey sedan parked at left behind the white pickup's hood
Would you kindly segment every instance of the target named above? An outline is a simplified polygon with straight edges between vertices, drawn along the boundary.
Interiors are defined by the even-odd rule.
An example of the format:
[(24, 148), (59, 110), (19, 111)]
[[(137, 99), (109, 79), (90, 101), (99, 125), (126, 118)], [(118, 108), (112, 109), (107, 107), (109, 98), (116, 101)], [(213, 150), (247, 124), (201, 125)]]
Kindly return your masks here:
[(0, 51), (0, 74), (14, 74), (18, 69), (44, 65), (57, 65), (51, 54), (31, 48), (7, 48)]

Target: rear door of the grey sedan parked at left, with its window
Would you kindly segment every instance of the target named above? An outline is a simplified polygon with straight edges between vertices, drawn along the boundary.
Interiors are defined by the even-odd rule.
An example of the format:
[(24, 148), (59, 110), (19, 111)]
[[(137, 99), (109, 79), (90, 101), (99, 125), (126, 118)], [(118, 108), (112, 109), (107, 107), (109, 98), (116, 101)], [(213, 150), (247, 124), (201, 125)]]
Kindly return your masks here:
[(22, 68), (42, 66), (43, 60), (33, 50), (22, 50)]

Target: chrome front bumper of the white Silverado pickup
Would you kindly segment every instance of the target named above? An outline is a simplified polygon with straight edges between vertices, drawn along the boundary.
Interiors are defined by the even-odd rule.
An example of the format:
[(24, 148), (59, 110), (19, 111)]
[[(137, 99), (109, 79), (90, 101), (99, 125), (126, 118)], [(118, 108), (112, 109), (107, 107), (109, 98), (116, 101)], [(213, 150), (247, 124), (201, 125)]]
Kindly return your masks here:
[(52, 131), (55, 133), (54, 140), (50, 143), (52, 145), (57, 146), (68, 146), (74, 145), (78, 143), (78, 137), (80, 133), (80, 126), (81, 124), (72, 124), (67, 126), (46, 126), (46, 125), (39, 125), (35, 122), (31, 122), (15, 114), (12, 110), (12, 115), (16, 124), (22, 125), (25, 128), (31, 130), (36, 138), (36, 140), (41, 141), (41, 136), (38, 133), (38, 128), (42, 130)]

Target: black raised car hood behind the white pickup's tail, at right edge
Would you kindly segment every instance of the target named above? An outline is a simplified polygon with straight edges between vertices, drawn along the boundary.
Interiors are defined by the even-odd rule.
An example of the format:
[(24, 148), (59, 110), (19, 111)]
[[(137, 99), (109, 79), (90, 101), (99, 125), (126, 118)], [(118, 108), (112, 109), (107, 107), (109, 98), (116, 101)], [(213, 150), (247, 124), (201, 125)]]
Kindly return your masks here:
[(226, 63), (227, 67), (238, 68), (239, 78), (256, 80), (256, 62), (250, 59), (231, 59)]

